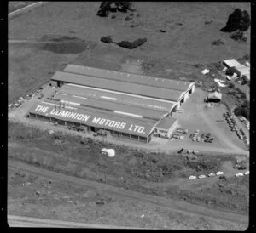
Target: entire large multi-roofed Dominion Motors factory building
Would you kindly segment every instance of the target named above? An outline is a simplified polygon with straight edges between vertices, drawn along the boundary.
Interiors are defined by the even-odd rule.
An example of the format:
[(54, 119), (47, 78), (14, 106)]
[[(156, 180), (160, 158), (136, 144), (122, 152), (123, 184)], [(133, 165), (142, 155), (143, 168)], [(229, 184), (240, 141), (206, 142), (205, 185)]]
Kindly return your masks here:
[(57, 92), (33, 105), (30, 117), (144, 143), (172, 137), (178, 125), (172, 112), (195, 90), (194, 82), (81, 65), (67, 65), (51, 81)]

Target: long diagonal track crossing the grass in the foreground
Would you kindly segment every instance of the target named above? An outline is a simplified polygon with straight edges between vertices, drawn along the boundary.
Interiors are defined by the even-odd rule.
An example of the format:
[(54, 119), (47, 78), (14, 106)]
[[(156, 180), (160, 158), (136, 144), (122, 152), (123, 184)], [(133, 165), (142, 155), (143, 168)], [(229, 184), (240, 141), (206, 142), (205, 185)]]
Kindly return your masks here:
[(217, 210), (208, 209), (206, 207), (201, 207), (198, 205), (193, 205), (188, 202), (173, 201), (172, 199), (166, 199), (164, 197), (147, 195), (137, 191), (124, 190), (117, 187), (113, 187), (111, 185), (98, 183), (95, 181), (79, 179), (79, 178), (68, 176), (62, 173), (51, 172), (49, 170), (27, 165), (26, 163), (23, 163), (23, 162), (15, 162), (15, 161), (9, 160), (8, 166), (9, 166), (9, 169), (14, 169), (14, 168), (20, 169), (22, 171), (35, 173), (40, 177), (44, 177), (52, 180), (59, 180), (59, 181), (65, 180), (67, 182), (71, 182), (73, 184), (79, 185), (80, 187), (84, 187), (84, 188), (86, 187), (93, 190), (104, 191), (105, 193), (108, 193), (108, 195), (111, 195), (111, 196), (120, 196), (122, 198), (131, 199), (133, 201), (137, 200), (138, 202), (147, 202), (147, 203), (154, 204), (156, 206), (170, 208), (172, 211), (174, 210), (174, 211), (182, 212), (185, 214), (197, 214), (204, 217), (210, 217), (214, 219), (220, 219), (220, 220), (225, 220), (225, 221), (230, 221), (230, 222), (235, 222), (240, 224), (248, 223), (247, 215), (221, 212)]

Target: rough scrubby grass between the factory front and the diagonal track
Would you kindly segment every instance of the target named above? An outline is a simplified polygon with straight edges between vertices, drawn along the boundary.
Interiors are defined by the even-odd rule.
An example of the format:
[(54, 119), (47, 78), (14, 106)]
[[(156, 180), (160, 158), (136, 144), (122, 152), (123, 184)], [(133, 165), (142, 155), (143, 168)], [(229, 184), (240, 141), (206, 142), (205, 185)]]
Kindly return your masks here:
[[(195, 188), (187, 179), (190, 174), (207, 174), (221, 170), (223, 162), (235, 164), (234, 157), (198, 155), (192, 161), (187, 154), (146, 154), (143, 151), (125, 150), (125, 147), (92, 140), (85, 140), (81, 144), (79, 137), (62, 135), (61, 138), (55, 139), (47, 131), (42, 132), (9, 122), (9, 159), (83, 179), (106, 182), (108, 185), (177, 200), (184, 198), (187, 202), (207, 207), (210, 205), (217, 209), (247, 213), (248, 183), (246, 185), (237, 183), (236, 179), (228, 179), (230, 185), (236, 186), (236, 190), (229, 192), (228, 181), (220, 188), (218, 179), (209, 183), (206, 180), (200, 188)], [(112, 159), (102, 156), (102, 147), (114, 148), (117, 156)], [(120, 177), (124, 179), (121, 180)], [(167, 183), (171, 185), (165, 189)]]

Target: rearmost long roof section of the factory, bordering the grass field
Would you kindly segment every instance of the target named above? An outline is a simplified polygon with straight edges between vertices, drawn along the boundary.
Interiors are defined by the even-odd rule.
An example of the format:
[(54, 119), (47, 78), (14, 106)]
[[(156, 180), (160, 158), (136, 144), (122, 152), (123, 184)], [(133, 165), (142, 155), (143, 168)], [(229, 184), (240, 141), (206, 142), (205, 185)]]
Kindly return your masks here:
[(167, 88), (178, 91), (187, 91), (191, 82), (181, 82), (161, 77), (149, 77), (138, 74), (130, 74), (119, 71), (108, 71), (82, 65), (67, 65), (65, 72), (93, 76), (98, 78), (107, 78), (122, 82), (132, 82), (151, 87)]

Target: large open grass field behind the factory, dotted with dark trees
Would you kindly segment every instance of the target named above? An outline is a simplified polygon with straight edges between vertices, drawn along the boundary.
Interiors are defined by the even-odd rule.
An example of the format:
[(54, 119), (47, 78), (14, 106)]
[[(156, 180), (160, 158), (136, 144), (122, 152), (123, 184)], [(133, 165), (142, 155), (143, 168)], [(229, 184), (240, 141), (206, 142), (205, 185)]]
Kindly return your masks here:
[[(128, 14), (101, 18), (96, 16), (99, 3), (47, 3), (9, 21), (9, 40), (38, 39), (57, 35), (77, 37), (90, 42), (80, 54), (55, 54), (41, 51), (37, 44), (9, 46), (9, 101), (17, 99), (30, 88), (49, 81), (52, 72), (60, 71), (65, 63), (119, 69), (126, 59), (140, 59), (153, 64), (149, 75), (188, 80), (201, 76), (195, 64), (207, 65), (228, 58), (249, 54), (247, 43), (238, 43), (219, 31), (228, 15), (249, 3), (134, 3), (133, 20)], [(139, 14), (139, 15), (137, 15)], [(192, 20), (191, 20), (192, 19)], [(204, 22), (212, 20), (211, 24)], [(136, 27), (131, 25), (137, 24)], [(166, 33), (159, 30), (165, 29)], [(246, 34), (248, 34), (247, 31)], [(148, 39), (135, 50), (101, 43), (100, 38), (111, 35), (114, 41)], [(224, 45), (212, 46), (221, 39)], [(165, 69), (172, 69), (166, 73)]]

